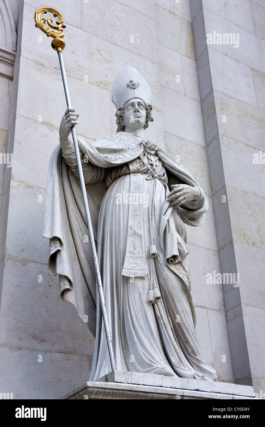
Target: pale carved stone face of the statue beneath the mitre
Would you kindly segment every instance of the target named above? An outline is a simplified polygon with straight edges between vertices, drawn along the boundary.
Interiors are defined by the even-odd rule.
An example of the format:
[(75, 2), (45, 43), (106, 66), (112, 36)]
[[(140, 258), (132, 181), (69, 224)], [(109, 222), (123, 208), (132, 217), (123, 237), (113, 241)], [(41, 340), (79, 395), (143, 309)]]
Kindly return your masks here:
[(130, 99), (124, 108), (124, 126), (127, 129), (135, 130), (144, 127), (146, 110), (144, 102), (139, 98)]

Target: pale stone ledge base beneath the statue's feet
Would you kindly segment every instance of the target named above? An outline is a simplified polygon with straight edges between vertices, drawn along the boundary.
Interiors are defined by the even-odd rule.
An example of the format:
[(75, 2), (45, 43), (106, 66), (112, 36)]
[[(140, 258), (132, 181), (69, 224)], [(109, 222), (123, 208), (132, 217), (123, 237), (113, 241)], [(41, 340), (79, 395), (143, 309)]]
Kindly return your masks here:
[(62, 399), (254, 399), (251, 386), (141, 372), (112, 371)]

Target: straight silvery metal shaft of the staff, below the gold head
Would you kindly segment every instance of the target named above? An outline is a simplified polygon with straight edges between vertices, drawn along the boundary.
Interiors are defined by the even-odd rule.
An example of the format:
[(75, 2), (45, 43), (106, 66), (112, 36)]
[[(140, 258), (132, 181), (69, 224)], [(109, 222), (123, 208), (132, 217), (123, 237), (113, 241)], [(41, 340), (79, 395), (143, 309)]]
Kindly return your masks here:
[[(65, 73), (65, 69), (64, 69), (64, 65), (63, 65), (63, 53), (61, 50), (58, 50), (57, 52), (58, 52), (60, 69), (61, 69), (62, 78), (63, 78), (63, 88), (64, 88), (65, 97), (66, 97), (66, 104), (67, 104), (67, 107), (71, 108), (71, 101), (70, 101), (70, 96), (69, 96), (69, 91), (68, 91), (68, 86), (67, 86), (67, 81), (66, 81), (66, 73)], [(104, 299), (103, 287), (102, 287), (102, 282), (101, 282), (101, 275), (100, 275), (99, 266), (98, 266), (98, 255), (97, 255), (97, 251), (96, 251), (94, 233), (93, 233), (93, 229), (92, 229), (91, 217), (90, 217), (89, 206), (88, 206), (88, 201), (87, 201), (87, 196), (86, 196), (86, 185), (85, 185), (85, 181), (84, 181), (84, 175), (83, 175), (83, 169), (82, 169), (81, 158), (80, 158), (80, 153), (79, 153), (77, 136), (76, 136), (76, 132), (75, 132), (75, 126), (72, 126), (71, 130), (72, 130), (72, 137), (73, 137), (73, 141), (74, 141), (75, 156), (76, 156), (76, 161), (77, 161), (77, 166), (78, 166), (81, 189), (82, 189), (82, 194), (83, 194), (84, 207), (85, 207), (85, 212), (86, 212), (87, 228), (88, 228), (88, 232), (89, 232), (91, 249), (92, 249), (92, 254), (93, 254), (94, 264), (95, 264), (95, 270), (96, 270), (98, 293), (99, 293), (99, 298), (100, 298), (100, 302), (101, 302), (101, 310), (102, 310), (102, 317), (103, 317), (104, 328), (105, 328), (105, 333), (106, 333), (106, 338), (107, 338), (107, 345), (108, 345), (108, 350), (109, 350), (110, 365), (111, 365), (112, 371), (115, 371), (115, 360), (114, 360), (114, 353), (113, 353), (113, 347), (112, 347), (112, 339), (111, 339), (111, 334), (110, 334), (110, 330), (109, 330), (109, 321), (107, 318), (107, 310), (106, 310), (106, 306), (105, 306), (105, 299)]]

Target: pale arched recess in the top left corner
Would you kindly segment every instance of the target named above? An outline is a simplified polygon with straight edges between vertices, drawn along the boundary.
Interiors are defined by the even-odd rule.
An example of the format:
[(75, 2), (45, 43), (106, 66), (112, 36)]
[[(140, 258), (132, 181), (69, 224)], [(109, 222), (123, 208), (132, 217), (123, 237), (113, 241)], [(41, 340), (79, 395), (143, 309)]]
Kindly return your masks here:
[(0, 47), (17, 50), (17, 33), (8, 0), (0, 0)]

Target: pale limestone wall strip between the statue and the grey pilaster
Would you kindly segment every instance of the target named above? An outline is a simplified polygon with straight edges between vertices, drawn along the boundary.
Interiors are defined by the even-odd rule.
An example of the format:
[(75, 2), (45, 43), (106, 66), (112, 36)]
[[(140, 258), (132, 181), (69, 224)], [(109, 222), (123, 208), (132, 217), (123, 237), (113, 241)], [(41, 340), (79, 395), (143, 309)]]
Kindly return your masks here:
[(219, 272), (220, 265), (190, 5), (156, 3), (166, 149), (198, 179), (209, 201), (204, 224), (187, 227), (196, 333), (203, 357), (215, 367), (219, 380), (233, 381), (222, 285), (206, 281), (207, 273)]

